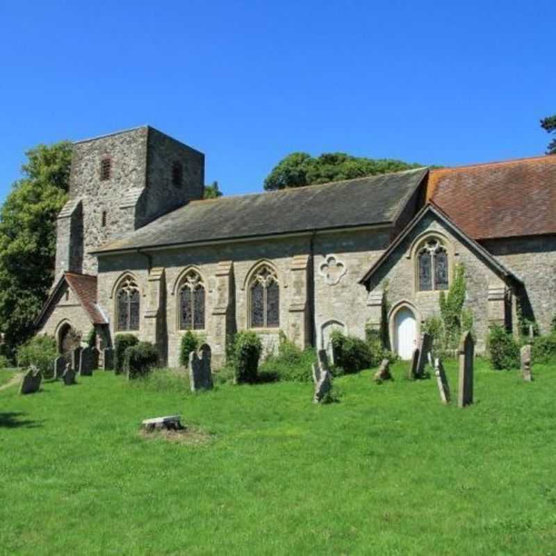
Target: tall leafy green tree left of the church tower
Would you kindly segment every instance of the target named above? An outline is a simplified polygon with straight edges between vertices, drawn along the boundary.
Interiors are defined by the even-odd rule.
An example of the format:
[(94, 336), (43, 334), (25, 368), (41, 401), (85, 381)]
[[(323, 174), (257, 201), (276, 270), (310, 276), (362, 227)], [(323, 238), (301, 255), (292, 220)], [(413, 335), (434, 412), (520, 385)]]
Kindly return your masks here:
[(39, 145), (26, 156), (23, 177), (0, 208), (0, 330), (10, 357), (31, 336), (54, 279), (56, 216), (67, 199), (72, 146)]

